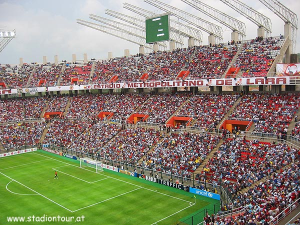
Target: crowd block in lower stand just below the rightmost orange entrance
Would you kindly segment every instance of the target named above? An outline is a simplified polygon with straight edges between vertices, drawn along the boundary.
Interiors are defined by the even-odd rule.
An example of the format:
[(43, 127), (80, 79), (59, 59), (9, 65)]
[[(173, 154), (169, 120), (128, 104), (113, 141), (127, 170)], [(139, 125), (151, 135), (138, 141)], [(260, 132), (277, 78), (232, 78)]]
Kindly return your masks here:
[(294, 162), (299, 153), (299, 149), (285, 143), (249, 141), (235, 136), (222, 143), (201, 175), (211, 182), (222, 178), (235, 196), (241, 189)]

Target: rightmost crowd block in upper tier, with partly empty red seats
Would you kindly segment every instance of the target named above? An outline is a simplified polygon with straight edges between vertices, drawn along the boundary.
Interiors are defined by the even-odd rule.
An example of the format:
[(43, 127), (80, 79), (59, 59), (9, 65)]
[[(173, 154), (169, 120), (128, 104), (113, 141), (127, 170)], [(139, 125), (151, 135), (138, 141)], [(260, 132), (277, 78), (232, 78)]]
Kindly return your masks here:
[(283, 38), (273, 37), (256, 37), (247, 41), (232, 67), (239, 67), (243, 76), (265, 76), (283, 42)]

